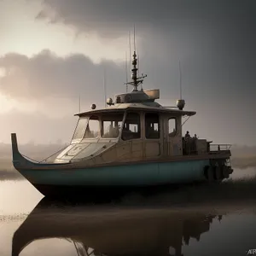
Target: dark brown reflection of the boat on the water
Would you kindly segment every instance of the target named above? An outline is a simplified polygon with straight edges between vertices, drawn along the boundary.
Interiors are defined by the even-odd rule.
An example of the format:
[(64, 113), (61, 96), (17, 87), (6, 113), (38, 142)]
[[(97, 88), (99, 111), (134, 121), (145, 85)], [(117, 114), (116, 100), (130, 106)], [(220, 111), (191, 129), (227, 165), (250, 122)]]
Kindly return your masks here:
[(73, 241), (79, 255), (89, 255), (91, 248), (92, 255), (168, 255), (170, 247), (175, 255), (183, 255), (183, 242), (189, 244), (191, 237), (199, 241), (217, 218), (186, 209), (66, 209), (47, 207), (43, 199), (15, 231), (12, 256), (18, 256), (32, 241), (45, 238)]

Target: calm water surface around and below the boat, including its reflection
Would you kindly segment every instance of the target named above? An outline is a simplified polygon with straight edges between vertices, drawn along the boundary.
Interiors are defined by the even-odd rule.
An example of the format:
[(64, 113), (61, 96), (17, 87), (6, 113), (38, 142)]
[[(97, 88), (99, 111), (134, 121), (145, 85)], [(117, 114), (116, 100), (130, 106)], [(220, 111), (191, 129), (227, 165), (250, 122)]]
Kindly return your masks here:
[[(255, 173), (236, 171), (234, 177)], [(1, 256), (247, 255), (256, 249), (255, 234), (252, 203), (58, 207), (25, 180), (0, 182)]]

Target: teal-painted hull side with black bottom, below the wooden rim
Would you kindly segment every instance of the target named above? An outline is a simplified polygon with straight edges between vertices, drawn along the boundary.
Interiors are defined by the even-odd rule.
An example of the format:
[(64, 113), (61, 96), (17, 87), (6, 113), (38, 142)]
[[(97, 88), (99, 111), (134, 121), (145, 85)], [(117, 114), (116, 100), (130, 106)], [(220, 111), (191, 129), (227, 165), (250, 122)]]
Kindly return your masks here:
[(43, 195), (102, 195), (202, 182), (206, 180), (204, 170), (209, 165), (209, 160), (188, 160), (86, 169), (24, 169), (19, 172)]

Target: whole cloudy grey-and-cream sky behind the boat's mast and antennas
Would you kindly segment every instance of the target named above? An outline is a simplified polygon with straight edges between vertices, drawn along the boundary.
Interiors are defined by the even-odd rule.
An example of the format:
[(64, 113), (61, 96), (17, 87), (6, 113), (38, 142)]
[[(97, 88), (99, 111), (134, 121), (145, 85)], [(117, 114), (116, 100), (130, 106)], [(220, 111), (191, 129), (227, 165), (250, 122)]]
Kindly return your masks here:
[[(144, 89), (197, 114), (184, 130), (256, 145), (254, 0), (0, 0), (0, 142), (67, 142), (79, 111), (125, 92), (128, 32), (136, 25)], [(133, 49), (133, 45), (132, 45)]]

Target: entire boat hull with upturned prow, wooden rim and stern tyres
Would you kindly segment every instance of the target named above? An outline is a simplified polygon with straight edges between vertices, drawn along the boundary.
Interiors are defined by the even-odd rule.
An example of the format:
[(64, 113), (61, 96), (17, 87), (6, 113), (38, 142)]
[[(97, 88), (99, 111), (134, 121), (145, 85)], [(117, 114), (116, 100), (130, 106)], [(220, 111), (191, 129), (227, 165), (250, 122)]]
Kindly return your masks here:
[(15, 169), (43, 195), (48, 196), (83, 197), (90, 194), (108, 194), (112, 191), (116, 193), (120, 190), (212, 182), (214, 179), (220, 181), (233, 172), (225, 166), (230, 152), (188, 156), (187, 159), (184, 156), (176, 160), (172, 158), (148, 162), (115, 162), (79, 167), (83, 162), (50, 164), (27, 160), (18, 150), (15, 134), (12, 134), (12, 147)]

